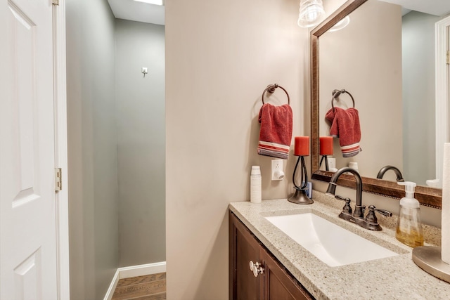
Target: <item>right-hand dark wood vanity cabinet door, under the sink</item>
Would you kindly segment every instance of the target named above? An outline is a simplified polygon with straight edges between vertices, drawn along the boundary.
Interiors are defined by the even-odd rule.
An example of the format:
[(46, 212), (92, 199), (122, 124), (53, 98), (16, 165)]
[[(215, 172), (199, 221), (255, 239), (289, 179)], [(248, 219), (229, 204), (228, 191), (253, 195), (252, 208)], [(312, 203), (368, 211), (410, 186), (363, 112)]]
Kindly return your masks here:
[(261, 248), (259, 257), (264, 262), (264, 300), (314, 299), (266, 249)]

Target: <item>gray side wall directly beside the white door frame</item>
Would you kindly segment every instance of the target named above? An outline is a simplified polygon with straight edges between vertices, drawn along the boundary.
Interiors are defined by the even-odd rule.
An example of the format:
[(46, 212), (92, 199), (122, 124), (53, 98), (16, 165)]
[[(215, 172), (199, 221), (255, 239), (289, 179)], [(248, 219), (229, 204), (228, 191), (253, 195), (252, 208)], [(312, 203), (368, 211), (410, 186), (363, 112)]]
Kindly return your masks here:
[(105, 0), (66, 3), (70, 299), (103, 299), (119, 261), (114, 18)]

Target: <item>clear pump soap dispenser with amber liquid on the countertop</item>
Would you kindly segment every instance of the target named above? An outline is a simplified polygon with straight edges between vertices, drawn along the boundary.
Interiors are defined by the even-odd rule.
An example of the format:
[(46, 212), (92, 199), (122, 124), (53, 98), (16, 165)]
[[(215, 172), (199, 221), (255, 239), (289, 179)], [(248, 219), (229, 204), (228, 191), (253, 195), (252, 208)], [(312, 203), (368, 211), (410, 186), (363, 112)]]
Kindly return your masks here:
[(411, 181), (398, 182), (405, 185), (406, 196), (400, 200), (399, 219), (395, 237), (409, 247), (423, 246), (422, 225), (420, 224), (420, 204), (414, 198), (416, 183)]

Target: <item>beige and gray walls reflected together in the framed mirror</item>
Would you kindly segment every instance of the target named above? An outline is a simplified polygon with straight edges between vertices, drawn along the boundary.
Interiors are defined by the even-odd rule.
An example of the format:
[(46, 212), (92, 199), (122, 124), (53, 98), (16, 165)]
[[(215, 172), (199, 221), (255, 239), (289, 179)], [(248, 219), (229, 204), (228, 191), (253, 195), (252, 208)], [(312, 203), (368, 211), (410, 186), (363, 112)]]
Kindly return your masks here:
[[(435, 186), (435, 22), (443, 17), (432, 13), (368, 0), (345, 28), (321, 35), (319, 136), (330, 136), (332, 105), (349, 110), (354, 102), (361, 127), (362, 151), (345, 157), (342, 137), (333, 138), (330, 167), (353, 166), (369, 178), (385, 168), (384, 180), (401, 174)], [(348, 93), (333, 99), (335, 89), (354, 99)]]

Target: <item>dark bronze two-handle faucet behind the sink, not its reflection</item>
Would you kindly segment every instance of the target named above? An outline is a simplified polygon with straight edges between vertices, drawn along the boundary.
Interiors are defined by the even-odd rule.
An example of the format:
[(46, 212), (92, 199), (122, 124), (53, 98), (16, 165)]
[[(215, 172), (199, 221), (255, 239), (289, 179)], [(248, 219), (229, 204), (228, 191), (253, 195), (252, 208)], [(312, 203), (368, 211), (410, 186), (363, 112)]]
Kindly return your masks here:
[[(354, 178), (356, 179), (356, 204), (354, 207), (354, 212), (352, 213), (352, 207), (350, 207), (350, 199), (344, 198), (339, 195), (335, 196), (336, 193), (336, 182), (338, 181), (338, 178), (344, 174), (345, 172), (352, 173)], [(333, 177), (331, 177), (330, 183), (328, 183), (328, 189), (326, 190), (326, 195), (335, 196), (338, 200), (344, 200), (345, 206), (343, 207), (341, 213), (339, 214), (339, 217), (341, 219), (344, 219), (346, 221), (354, 222), (356, 225), (359, 225), (363, 228), (369, 229), (369, 230), (382, 230), (380, 224), (378, 224), (378, 220), (375, 216), (375, 211), (379, 212), (380, 214), (383, 214), (385, 216), (392, 216), (392, 213), (390, 211), (384, 210), (384, 209), (376, 209), (373, 205), (369, 206), (369, 212), (366, 216), (366, 219), (364, 219), (364, 209), (366, 208), (363, 206), (363, 182), (361, 180), (361, 176), (359, 175), (358, 171), (355, 169), (344, 167), (342, 169), (339, 169)]]

